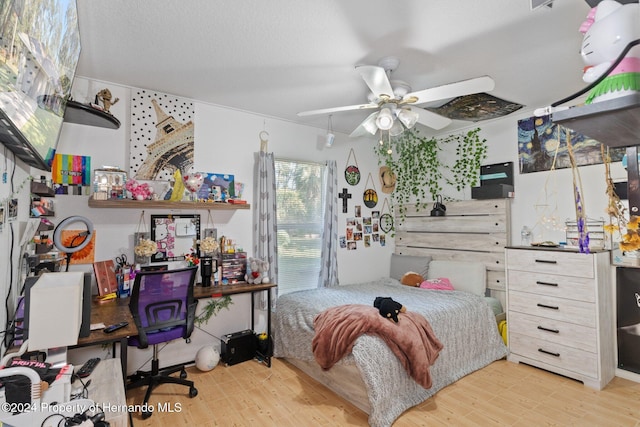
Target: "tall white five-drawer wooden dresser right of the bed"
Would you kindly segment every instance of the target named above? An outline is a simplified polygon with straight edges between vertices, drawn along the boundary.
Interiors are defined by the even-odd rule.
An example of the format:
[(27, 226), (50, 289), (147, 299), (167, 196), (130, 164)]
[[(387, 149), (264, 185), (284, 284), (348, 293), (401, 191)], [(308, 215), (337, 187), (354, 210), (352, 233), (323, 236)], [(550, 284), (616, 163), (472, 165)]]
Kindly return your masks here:
[(508, 247), (510, 355), (600, 390), (615, 375), (608, 251)]

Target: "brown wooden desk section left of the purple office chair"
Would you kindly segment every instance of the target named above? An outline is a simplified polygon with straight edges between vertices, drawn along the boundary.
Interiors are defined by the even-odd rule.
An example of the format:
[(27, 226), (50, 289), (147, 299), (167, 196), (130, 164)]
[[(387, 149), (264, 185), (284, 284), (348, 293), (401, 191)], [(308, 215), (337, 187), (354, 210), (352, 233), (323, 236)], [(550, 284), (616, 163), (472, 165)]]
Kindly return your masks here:
[(129, 310), (129, 298), (115, 298), (108, 301), (91, 302), (91, 323), (104, 323), (105, 326), (120, 322), (129, 322), (129, 325), (105, 334), (102, 329), (91, 331), (88, 337), (78, 339), (78, 344), (70, 348), (89, 347), (100, 344), (113, 344), (113, 356), (115, 357), (116, 343), (120, 343), (120, 363), (123, 379), (127, 376), (127, 339), (138, 335), (138, 330)]

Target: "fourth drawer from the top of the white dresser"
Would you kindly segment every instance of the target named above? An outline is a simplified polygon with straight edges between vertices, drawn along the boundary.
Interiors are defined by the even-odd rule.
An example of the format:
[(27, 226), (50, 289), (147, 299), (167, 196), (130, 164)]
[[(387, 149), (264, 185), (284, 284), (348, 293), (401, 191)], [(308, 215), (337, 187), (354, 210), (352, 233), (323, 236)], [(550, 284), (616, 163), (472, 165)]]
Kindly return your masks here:
[(595, 328), (529, 314), (509, 312), (509, 332), (596, 353)]

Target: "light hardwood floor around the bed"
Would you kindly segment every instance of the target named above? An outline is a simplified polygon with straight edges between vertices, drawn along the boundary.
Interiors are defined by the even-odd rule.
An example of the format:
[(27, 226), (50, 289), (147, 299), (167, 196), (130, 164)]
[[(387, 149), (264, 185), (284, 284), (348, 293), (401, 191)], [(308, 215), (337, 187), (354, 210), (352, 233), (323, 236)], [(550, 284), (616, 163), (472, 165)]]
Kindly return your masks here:
[[(367, 415), (294, 366), (273, 359), (218, 365), (210, 372), (187, 368), (198, 396), (186, 387), (161, 385), (151, 398), (181, 404), (155, 412), (141, 426), (367, 426)], [(142, 401), (130, 390), (127, 403)], [(444, 388), (406, 411), (401, 426), (640, 426), (640, 384), (616, 377), (602, 391), (526, 365), (497, 361)]]

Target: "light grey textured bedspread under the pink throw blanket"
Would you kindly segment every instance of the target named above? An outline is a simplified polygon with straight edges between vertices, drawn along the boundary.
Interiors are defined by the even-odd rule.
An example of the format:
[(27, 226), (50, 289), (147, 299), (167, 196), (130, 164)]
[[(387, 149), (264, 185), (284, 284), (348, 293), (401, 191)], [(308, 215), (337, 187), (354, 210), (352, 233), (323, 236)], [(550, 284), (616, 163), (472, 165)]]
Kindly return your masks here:
[(274, 316), (274, 356), (314, 361), (314, 317), (338, 305), (373, 305), (376, 296), (392, 297), (407, 310), (425, 316), (444, 348), (431, 367), (433, 385), (424, 389), (407, 375), (380, 338), (364, 335), (356, 340), (352, 354), (339, 363), (356, 364), (362, 373), (371, 407), (369, 424), (373, 427), (390, 426), (408, 408), (507, 355), (493, 311), (482, 297), (413, 288), (394, 279), (381, 279), (280, 296)]

